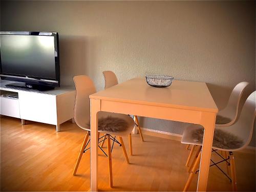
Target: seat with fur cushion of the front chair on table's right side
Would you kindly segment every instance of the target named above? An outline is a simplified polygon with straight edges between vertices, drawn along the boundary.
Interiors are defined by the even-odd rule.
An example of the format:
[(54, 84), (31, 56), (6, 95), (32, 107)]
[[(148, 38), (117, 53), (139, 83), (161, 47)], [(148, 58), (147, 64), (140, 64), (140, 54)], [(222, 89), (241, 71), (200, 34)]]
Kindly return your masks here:
[[(186, 127), (181, 138), (181, 143), (202, 145), (203, 129), (203, 126), (198, 124)], [(221, 128), (215, 128), (214, 142), (212, 144), (212, 148), (215, 150), (236, 151), (242, 145), (243, 141), (239, 137), (223, 131)]]

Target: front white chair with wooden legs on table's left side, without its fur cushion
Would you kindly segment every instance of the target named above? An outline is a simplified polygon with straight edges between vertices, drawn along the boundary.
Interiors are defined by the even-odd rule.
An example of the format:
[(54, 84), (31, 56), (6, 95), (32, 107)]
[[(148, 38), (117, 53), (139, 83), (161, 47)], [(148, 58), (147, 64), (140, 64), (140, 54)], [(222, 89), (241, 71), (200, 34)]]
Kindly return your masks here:
[[(82, 154), (86, 150), (86, 146), (89, 142), (88, 138), (90, 136), (90, 99), (89, 95), (96, 92), (96, 89), (94, 87), (93, 81), (86, 75), (79, 75), (75, 76), (74, 78), (75, 88), (76, 88), (76, 97), (75, 97), (75, 108), (74, 108), (74, 119), (76, 124), (83, 130), (87, 131), (86, 136), (84, 137), (81, 150), (79, 152), (76, 165), (73, 171), (73, 175), (76, 175), (77, 168), (79, 166)], [(126, 154), (125, 146), (123, 143), (123, 136), (128, 136), (133, 128), (134, 128), (134, 120), (130, 116), (124, 115), (124, 114), (117, 114), (117, 113), (110, 113), (110, 112), (99, 112), (98, 113), (98, 119), (105, 118), (105, 117), (113, 117), (118, 119), (123, 119), (127, 123), (127, 127), (124, 131), (105, 131), (100, 130), (99, 127), (99, 133), (105, 133), (106, 140), (108, 143), (108, 161), (109, 161), (109, 177), (110, 177), (110, 186), (113, 186), (113, 177), (112, 177), (112, 156), (111, 156), (111, 140), (113, 142), (116, 142), (115, 139), (111, 138), (111, 135), (119, 136), (120, 144), (122, 146), (123, 154), (126, 159), (126, 162), (129, 164), (129, 158)]]

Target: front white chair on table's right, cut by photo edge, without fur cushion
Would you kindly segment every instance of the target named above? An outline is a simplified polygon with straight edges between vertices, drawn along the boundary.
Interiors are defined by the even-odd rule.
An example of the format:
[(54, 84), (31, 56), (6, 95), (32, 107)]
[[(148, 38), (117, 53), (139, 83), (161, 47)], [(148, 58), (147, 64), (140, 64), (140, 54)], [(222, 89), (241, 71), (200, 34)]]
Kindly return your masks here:
[[(230, 162), (227, 162), (227, 164), (230, 164), (230, 169), (231, 169), (231, 180), (232, 180), (232, 188), (233, 190), (237, 190), (237, 180), (236, 180), (236, 172), (235, 172), (235, 167), (234, 167), (234, 157), (232, 152), (233, 151), (240, 151), (243, 148), (245, 148), (252, 137), (252, 131), (253, 131), (253, 124), (254, 124), (254, 118), (255, 118), (255, 95), (256, 92), (254, 91), (253, 93), (250, 94), (250, 96), (247, 98), (247, 100), (244, 103), (244, 106), (242, 108), (241, 114), (239, 119), (232, 125), (226, 126), (226, 127), (218, 127), (216, 126), (216, 130), (223, 130), (227, 133), (230, 133), (234, 136), (237, 136), (243, 141), (243, 144), (238, 147), (238, 148), (220, 148), (216, 146), (212, 146), (212, 149), (214, 151), (216, 150), (221, 150), (224, 152), (229, 152), (229, 157), (225, 159), (227, 162), (228, 159)], [(200, 145), (202, 146), (202, 143), (200, 141), (195, 141), (193, 138), (193, 133), (195, 133), (195, 130), (202, 129), (201, 125), (191, 125), (187, 127), (182, 135), (181, 143), (185, 144), (193, 144), (195, 145)], [(214, 137), (215, 139), (215, 137)], [(191, 149), (191, 153), (192, 153)], [(198, 154), (198, 157), (193, 163), (193, 168), (191, 170), (191, 173), (189, 175), (189, 178), (187, 180), (187, 183), (185, 185), (184, 191), (186, 191), (191, 183), (191, 180), (193, 179), (196, 169), (200, 163), (200, 158), (201, 158), (201, 151)], [(211, 160), (212, 161), (212, 160)]]

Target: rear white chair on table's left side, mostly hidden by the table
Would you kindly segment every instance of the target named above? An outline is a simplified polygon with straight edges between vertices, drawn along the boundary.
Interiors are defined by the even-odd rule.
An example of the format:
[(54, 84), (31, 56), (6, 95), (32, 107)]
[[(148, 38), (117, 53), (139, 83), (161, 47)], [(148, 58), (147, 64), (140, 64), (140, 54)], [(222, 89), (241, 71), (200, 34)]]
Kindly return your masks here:
[[(105, 79), (105, 89), (108, 89), (108, 88), (118, 84), (118, 80), (117, 80), (116, 74), (114, 72), (112, 72), (112, 71), (103, 71), (103, 76), (104, 76), (104, 79)], [(138, 127), (140, 138), (141, 138), (142, 141), (144, 141), (142, 131), (140, 129), (140, 124), (139, 124), (138, 117), (135, 115), (134, 118), (135, 118), (135, 124)], [(130, 155), (133, 155), (132, 135), (131, 134), (129, 135), (129, 144), (130, 144), (129, 145), (130, 146)], [(104, 145), (104, 142), (101, 143), (101, 146), (103, 146), (103, 145)]]

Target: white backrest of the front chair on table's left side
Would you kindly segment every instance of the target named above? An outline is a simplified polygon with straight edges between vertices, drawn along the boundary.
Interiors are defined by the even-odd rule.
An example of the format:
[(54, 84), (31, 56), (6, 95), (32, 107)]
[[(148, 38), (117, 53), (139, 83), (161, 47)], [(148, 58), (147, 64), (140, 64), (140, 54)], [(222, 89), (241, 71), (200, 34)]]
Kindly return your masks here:
[(86, 75), (73, 77), (76, 97), (74, 108), (74, 119), (76, 124), (84, 130), (89, 130), (90, 126), (90, 98), (89, 95), (96, 93), (93, 81)]

